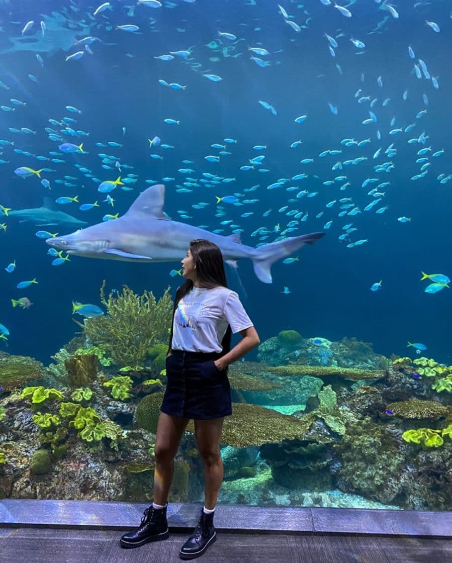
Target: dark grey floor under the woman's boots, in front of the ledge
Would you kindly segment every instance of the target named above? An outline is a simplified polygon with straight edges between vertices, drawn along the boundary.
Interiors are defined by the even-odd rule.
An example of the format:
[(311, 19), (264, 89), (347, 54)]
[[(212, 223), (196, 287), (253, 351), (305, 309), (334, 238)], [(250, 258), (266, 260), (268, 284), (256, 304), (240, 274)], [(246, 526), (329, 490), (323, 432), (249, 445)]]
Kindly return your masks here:
[[(136, 549), (119, 545), (122, 531), (0, 528), (0, 563), (168, 563), (190, 533)], [(247, 533), (217, 531), (204, 563), (452, 563), (452, 539), (375, 535)]]

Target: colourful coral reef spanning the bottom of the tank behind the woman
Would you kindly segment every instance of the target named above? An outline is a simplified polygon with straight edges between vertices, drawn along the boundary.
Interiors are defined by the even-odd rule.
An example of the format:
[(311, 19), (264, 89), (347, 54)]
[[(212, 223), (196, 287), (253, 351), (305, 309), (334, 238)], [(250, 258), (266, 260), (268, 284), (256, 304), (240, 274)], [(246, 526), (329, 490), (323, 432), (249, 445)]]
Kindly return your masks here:
[[(103, 291), (108, 315), (80, 324), (83, 336), (52, 356), (47, 372), (60, 388), (43, 386), (39, 363), (33, 376), (16, 370), (12, 386), (0, 370), (0, 497), (151, 497), (172, 302), (162, 297), (156, 312), (160, 302), (150, 293), (124, 287), (107, 300)], [(157, 314), (167, 320), (141, 332)], [(229, 368), (233, 413), (223, 424), (220, 501), (450, 509), (451, 366), (389, 361), (356, 338), (333, 342), (292, 330), (263, 345), (265, 363)], [(0, 369), (23, 365), (20, 358), (0, 354)], [(190, 421), (181, 439), (173, 502), (202, 500), (194, 430)]]

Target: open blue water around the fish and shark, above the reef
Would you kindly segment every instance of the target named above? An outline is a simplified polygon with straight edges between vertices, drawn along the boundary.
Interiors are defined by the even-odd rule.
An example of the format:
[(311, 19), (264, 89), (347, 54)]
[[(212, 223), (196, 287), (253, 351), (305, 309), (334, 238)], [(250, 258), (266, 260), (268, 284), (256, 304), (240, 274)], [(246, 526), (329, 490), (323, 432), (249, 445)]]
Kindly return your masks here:
[[(101, 2), (99, 2), (101, 3)], [(59, 196), (79, 196), (79, 202), (93, 203), (99, 200), (100, 208), (88, 212), (79, 211), (73, 203), (62, 205), (61, 211), (70, 213), (89, 225), (102, 221), (105, 213), (122, 215), (137, 195), (150, 184), (145, 180), (162, 183), (163, 177), (176, 178), (166, 185), (164, 211), (172, 220), (179, 220), (177, 210), (185, 209), (193, 218), (186, 221), (192, 225), (207, 225), (208, 230), (223, 228), (229, 235), (231, 228), (221, 226), (220, 221), (231, 219), (238, 224), (244, 244), (256, 246), (259, 242), (272, 242), (280, 233), (274, 232), (276, 224), (281, 230), (294, 217), (285, 215), (290, 209), (308, 212), (307, 221), (299, 221), (298, 229), (287, 236), (323, 231), (327, 221), (333, 224), (325, 230), (326, 235), (312, 247), (304, 247), (297, 253), (299, 262), (272, 266), (272, 284), (259, 282), (248, 260), (239, 261), (242, 283), (247, 290), (245, 297), (234, 272), (227, 267), (231, 288), (238, 291), (261, 341), (275, 336), (279, 330), (292, 328), (302, 336), (321, 336), (332, 341), (344, 336), (356, 336), (373, 342), (375, 352), (390, 356), (392, 353), (413, 356), (413, 349), (406, 348), (408, 341), (422, 342), (428, 350), (426, 355), (437, 361), (450, 364), (450, 327), (452, 312), (450, 290), (444, 288), (436, 294), (424, 293), (428, 281), (420, 282), (421, 270), (428, 274), (452, 274), (450, 258), (449, 215), (452, 197), (451, 184), (440, 184), (437, 176), (452, 173), (450, 166), (449, 98), (450, 78), (450, 33), (452, 20), (450, 8), (445, 2), (404, 2), (395, 6), (399, 19), (391, 16), (382, 5), (359, 0), (348, 5), (352, 17), (342, 16), (337, 9), (324, 6), (320, 1), (303, 3), (284, 2), (291, 19), (300, 26), (295, 32), (281, 16), (276, 2), (256, 0), (250, 2), (215, 2), (196, 0), (164, 2), (158, 9), (151, 9), (133, 2), (111, 0), (111, 10), (106, 10), (94, 19), (92, 14), (97, 3), (92, 2), (47, 2), (37, 1), (33, 7), (17, 2), (2, 2), (0, 33), (0, 80), (9, 90), (0, 88), (0, 105), (15, 108), (14, 112), (0, 114), (0, 138), (14, 141), (14, 148), (29, 151), (34, 155), (48, 155), (57, 151), (61, 142), (84, 143), (88, 154), (63, 154), (57, 158), (64, 163), (39, 162), (33, 157), (14, 153), (12, 146), (4, 146), (1, 159), (8, 163), (0, 165), (2, 184), (0, 203), (5, 207), (23, 209), (40, 207), (44, 196), (56, 199)], [(346, 5), (346, 4), (344, 4)], [(55, 44), (42, 43), (39, 22), (43, 14), (52, 11), (64, 16)], [(133, 12), (134, 15), (127, 14)], [(53, 17), (53, 16), (52, 16)], [(387, 17), (379, 33), (369, 34)], [(10, 39), (20, 37), (27, 21), (34, 20), (33, 28), (25, 34), (41, 43), (37, 51), (5, 51), (11, 46)], [(440, 33), (435, 33), (427, 24), (435, 21)], [(51, 23), (49, 20), (48, 28)], [(307, 21), (307, 23), (306, 23)], [(60, 43), (69, 38), (81, 39), (86, 33), (77, 34), (83, 25), (91, 26), (89, 35), (99, 37), (90, 47), (92, 55), (85, 53), (80, 60), (66, 57), (79, 50), (71, 47), (64, 50)], [(134, 24), (141, 34), (129, 34), (115, 29), (117, 25)], [(179, 30), (178, 30), (179, 29)], [(180, 31), (183, 30), (183, 31)], [(243, 41), (233, 42), (222, 38), (218, 32), (233, 33)], [(46, 32), (47, 33), (47, 32)], [(336, 56), (328, 50), (328, 33), (336, 38), (339, 47)], [(50, 32), (47, 33), (50, 37)], [(357, 49), (350, 38), (359, 39), (366, 45)], [(46, 36), (47, 38), (47, 36)], [(235, 47), (223, 56), (215, 52), (208, 43), (222, 42), (220, 47)], [(56, 44), (59, 43), (59, 44)], [(408, 46), (413, 48), (416, 59), (410, 59)], [(271, 65), (259, 67), (250, 59), (248, 46), (264, 47), (269, 56), (259, 57)], [(169, 51), (191, 48), (189, 60), (176, 57), (172, 61), (161, 61), (154, 57)], [(360, 51), (364, 51), (359, 54)], [(43, 68), (36, 59), (40, 53)], [(233, 55), (239, 55), (234, 57)], [(258, 55), (255, 55), (258, 56)], [(219, 57), (210, 61), (209, 57)], [(431, 80), (417, 79), (414, 63), (418, 59), (426, 62), (428, 71), (438, 77), (436, 90)], [(200, 63), (199, 68), (193, 64)], [(337, 67), (341, 67), (342, 74)], [(202, 73), (220, 75), (222, 81), (212, 82)], [(28, 75), (33, 74), (38, 83)], [(361, 75), (364, 81), (361, 81)], [(377, 84), (382, 77), (383, 88)], [(172, 90), (161, 86), (159, 79), (185, 85), (185, 90)], [(363, 125), (369, 118), (370, 101), (358, 104), (355, 92), (361, 88), (361, 96), (377, 98), (372, 108), (377, 123)], [(408, 90), (408, 99), (402, 93)], [(428, 97), (428, 105), (423, 94)], [(14, 106), (10, 99), (26, 102), (26, 106)], [(384, 99), (390, 98), (386, 107)], [(263, 100), (274, 106), (277, 115), (262, 108)], [(338, 109), (333, 115), (328, 102)], [(82, 114), (69, 113), (66, 105), (72, 105)], [(427, 114), (415, 116), (421, 110)], [(307, 115), (303, 123), (295, 123), (299, 115)], [(48, 139), (44, 127), (52, 127), (48, 119), (63, 117), (77, 119), (69, 124), (74, 129), (89, 132), (89, 136), (62, 136), (63, 141)], [(391, 118), (395, 124), (390, 126)], [(168, 125), (165, 118), (180, 120), (178, 125)], [(393, 128), (405, 128), (416, 123), (408, 133), (389, 135)], [(11, 133), (10, 127), (28, 127), (33, 134)], [(126, 127), (126, 135), (122, 128)], [(377, 138), (377, 129), (381, 140)], [(425, 144), (408, 144), (409, 138), (422, 132), (428, 136)], [(161, 147), (149, 149), (148, 138), (159, 136)], [(220, 157), (219, 163), (207, 162), (206, 155), (218, 154), (211, 148), (214, 143), (225, 144), (224, 138), (234, 138), (226, 150), (231, 155)], [(343, 138), (371, 142), (358, 148), (341, 145)], [(291, 149), (296, 140), (302, 144)], [(116, 141), (121, 148), (97, 147), (96, 142)], [(393, 143), (397, 153), (388, 158), (384, 154)], [(253, 150), (253, 145), (266, 145), (263, 151)], [(421, 164), (416, 164), (417, 151), (431, 146), (425, 156), (431, 162), (425, 177), (413, 181)], [(379, 158), (373, 159), (375, 151), (382, 147)], [(318, 155), (326, 149), (339, 149), (337, 156)], [(441, 157), (431, 155), (440, 149)], [(99, 153), (114, 155), (120, 163), (133, 169), (123, 170), (138, 175), (133, 191), (122, 191), (117, 187), (110, 195), (115, 199), (112, 208), (103, 203), (105, 195), (97, 191), (97, 183), (83, 176), (74, 167), (75, 163), (90, 169), (100, 180), (114, 180), (119, 176), (115, 169), (101, 168)], [(163, 160), (150, 158), (151, 153), (160, 154)], [(249, 159), (259, 154), (266, 156), (262, 168), (270, 171), (259, 173), (258, 167), (241, 171)], [(356, 166), (343, 166), (332, 171), (338, 160), (366, 157)], [(303, 158), (313, 158), (310, 164), (300, 164)], [(193, 160), (193, 164), (182, 164), (182, 160)], [(376, 164), (392, 162), (390, 172), (376, 173)], [(48, 166), (56, 172), (46, 173), (51, 181), (51, 190), (44, 188), (36, 176), (17, 177), (17, 167), (28, 166), (39, 169)], [(183, 175), (179, 168), (193, 168), (195, 172)], [(203, 172), (221, 177), (235, 177), (230, 184), (194, 187), (190, 194), (177, 193), (186, 176), (202, 178)], [(308, 177), (297, 182), (292, 176), (305, 172)], [(55, 183), (65, 175), (77, 177), (77, 187), (66, 187)], [(339, 187), (345, 183), (334, 182), (325, 186), (324, 181), (335, 176), (346, 175), (346, 190)], [(369, 177), (379, 182), (391, 182), (381, 191), (382, 201), (372, 211), (364, 207), (374, 198), (368, 191), (375, 184), (361, 187)], [(288, 178), (284, 186), (268, 190), (267, 186), (279, 178)], [(259, 185), (255, 191), (244, 191)], [(297, 191), (286, 187), (297, 186), (299, 190), (318, 191), (312, 198), (295, 198)], [(215, 196), (242, 194), (239, 199), (259, 199), (258, 203), (235, 206), (224, 204), (225, 215), (216, 217)], [(352, 198), (361, 213), (354, 217), (338, 217), (339, 205), (326, 208), (326, 203), (339, 198)], [(191, 205), (208, 202), (204, 210)], [(285, 212), (278, 209), (288, 205)], [(388, 206), (381, 215), (375, 211)], [(272, 209), (268, 217), (262, 214)], [(254, 215), (241, 218), (241, 213), (253, 211)], [(315, 218), (323, 211), (323, 216)], [(401, 224), (397, 217), (406, 216), (411, 222)], [(44, 240), (35, 236), (41, 229), (51, 233), (66, 234), (74, 229), (55, 226), (37, 227), (19, 223), (14, 217), (0, 217), (7, 224), (6, 232), (0, 231), (0, 266), (16, 260), (17, 268), (12, 274), (0, 269), (0, 323), (10, 330), (7, 342), (0, 341), (3, 350), (11, 354), (34, 356), (48, 364), (50, 355), (68, 342), (78, 328), (72, 321), (71, 301), (96, 303), (99, 305), (99, 288), (107, 280), (107, 289), (127, 284), (136, 293), (151, 289), (159, 297), (168, 284), (173, 295), (181, 278), (172, 278), (171, 269), (179, 269), (179, 262), (147, 265), (132, 262), (113, 262), (90, 258), (71, 257), (62, 266), (52, 266), (52, 257), (47, 255)], [(181, 220), (183, 221), (183, 220)], [(342, 227), (353, 223), (357, 231), (350, 240), (341, 242), (338, 236)], [(270, 233), (264, 241), (251, 236), (258, 227), (265, 226)], [(208, 238), (208, 230), (206, 238)], [(368, 239), (368, 243), (347, 248), (356, 240)], [(183, 256), (181, 256), (181, 259)], [(28, 289), (16, 289), (17, 283), (37, 278), (38, 284)], [(370, 291), (373, 283), (382, 281), (382, 288)], [(284, 286), (292, 293), (284, 294)], [(11, 298), (29, 297), (33, 305), (28, 310), (15, 309)], [(76, 315), (77, 316), (77, 315)], [(78, 316), (77, 316), (78, 317)], [(79, 318), (79, 317), (78, 317)], [(79, 318), (80, 319), (80, 318)], [(253, 356), (253, 354), (250, 354)], [(251, 359), (251, 358), (250, 358)]]

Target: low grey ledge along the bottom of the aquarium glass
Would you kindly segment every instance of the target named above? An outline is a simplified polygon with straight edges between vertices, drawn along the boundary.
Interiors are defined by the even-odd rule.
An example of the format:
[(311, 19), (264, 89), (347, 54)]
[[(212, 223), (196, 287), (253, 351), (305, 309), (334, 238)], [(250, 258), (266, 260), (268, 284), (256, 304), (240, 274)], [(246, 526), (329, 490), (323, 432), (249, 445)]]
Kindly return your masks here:
[[(149, 503), (150, 504), (150, 503)], [(0, 501), (0, 527), (128, 530), (137, 528), (149, 504), (128, 502)], [(168, 525), (191, 531), (202, 504), (168, 503)], [(372, 534), (450, 538), (452, 512), (285, 508), (217, 504), (215, 527), (234, 533)]]

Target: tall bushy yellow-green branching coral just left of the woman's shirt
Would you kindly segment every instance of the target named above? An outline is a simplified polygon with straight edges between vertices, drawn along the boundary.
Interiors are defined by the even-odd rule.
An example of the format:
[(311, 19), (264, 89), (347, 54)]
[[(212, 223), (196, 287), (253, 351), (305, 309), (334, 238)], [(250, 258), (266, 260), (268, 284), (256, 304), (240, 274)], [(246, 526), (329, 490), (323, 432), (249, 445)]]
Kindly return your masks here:
[(159, 301), (145, 291), (137, 295), (123, 286), (122, 293), (104, 293), (105, 280), (100, 289), (102, 305), (107, 315), (86, 319), (79, 323), (93, 345), (104, 347), (120, 366), (143, 364), (149, 348), (167, 342), (172, 318), (173, 300), (169, 287)]

